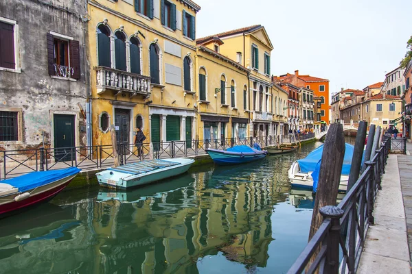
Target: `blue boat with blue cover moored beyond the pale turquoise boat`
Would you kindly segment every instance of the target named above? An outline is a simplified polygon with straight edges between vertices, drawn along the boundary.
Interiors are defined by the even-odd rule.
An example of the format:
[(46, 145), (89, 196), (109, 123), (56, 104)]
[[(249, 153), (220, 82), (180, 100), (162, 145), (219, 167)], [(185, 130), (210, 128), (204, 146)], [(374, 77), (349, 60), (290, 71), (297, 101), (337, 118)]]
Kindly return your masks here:
[(261, 160), (266, 157), (268, 151), (260, 150), (260, 147), (257, 148), (258, 149), (253, 149), (245, 145), (240, 145), (230, 147), (226, 150), (206, 149), (206, 152), (216, 164), (244, 164)]

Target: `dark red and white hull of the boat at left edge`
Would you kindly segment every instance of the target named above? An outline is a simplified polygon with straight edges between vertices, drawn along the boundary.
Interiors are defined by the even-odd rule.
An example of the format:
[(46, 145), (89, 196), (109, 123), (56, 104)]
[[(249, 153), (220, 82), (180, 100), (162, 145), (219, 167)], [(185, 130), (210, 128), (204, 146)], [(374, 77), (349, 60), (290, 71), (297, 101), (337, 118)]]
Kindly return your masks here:
[[(5, 195), (0, 197), (0, 218), (10, 216), (11, 214), (19, 212), (27, 207), (34, 206), (39, 203), (49, 201), (54, 196), (58, 195), (73, 179), (76, 175), (70, 175), (65, 178), (59, 179), (56, 182), (39, 186), (34, 190), (27, 190), (23, 193), (13, 193), (11, 195)], [(15, 198), (24, 193), (30, 193), (30, 196), (26, 199), (16, 201)]]

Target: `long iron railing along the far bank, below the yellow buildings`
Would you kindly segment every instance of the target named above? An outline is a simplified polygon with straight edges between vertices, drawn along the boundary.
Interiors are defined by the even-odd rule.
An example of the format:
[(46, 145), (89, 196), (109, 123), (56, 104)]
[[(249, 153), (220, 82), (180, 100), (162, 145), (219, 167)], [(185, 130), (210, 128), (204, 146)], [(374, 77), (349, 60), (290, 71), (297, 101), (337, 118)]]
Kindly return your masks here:
[[(301, 140), (314, 138), (306, 134)], [(191, 140), (150, 142), (141, 144), (141, 153), (135, 144), (119, 144), (117, 154), (119, 163), (138, 162), (149, 158), (183, 158), (206, 154), (206, 149), (227, 149), (235, 145), (253, 147), (255, 143), (260, 147), (282, 143), (283, 136), (261, 136), (248, 138), (223, 138), (215, 140)], [(152, 151), (152, 155), (150, 155)], [(83, 170), (102, 169), (112, 166), (114, 159), (111, 145), (98, 145), (90, 147), (60, 147), (38, 148), (12, 151), (0, 151), (0, 179), (15, 177), (32, 171), (48, 171), (51, 169), (65, 169), (76, 166)]]

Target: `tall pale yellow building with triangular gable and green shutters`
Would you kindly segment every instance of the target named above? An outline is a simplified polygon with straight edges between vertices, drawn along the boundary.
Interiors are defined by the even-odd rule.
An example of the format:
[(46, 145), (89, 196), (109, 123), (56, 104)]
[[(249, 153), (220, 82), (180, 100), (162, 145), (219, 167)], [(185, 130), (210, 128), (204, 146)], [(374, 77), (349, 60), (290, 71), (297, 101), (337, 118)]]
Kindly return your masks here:
[(249, 136), (272, 135), (271, 51), (273, 45), (264, 27), (253, 25), (234, 29), (199, 38), (196, 42), (198, 44), (209, 42), (211, 49), (231, 60), (236, 60), (238, 64), (251, 71), (247, 87), (247, 111), (250, 112)]

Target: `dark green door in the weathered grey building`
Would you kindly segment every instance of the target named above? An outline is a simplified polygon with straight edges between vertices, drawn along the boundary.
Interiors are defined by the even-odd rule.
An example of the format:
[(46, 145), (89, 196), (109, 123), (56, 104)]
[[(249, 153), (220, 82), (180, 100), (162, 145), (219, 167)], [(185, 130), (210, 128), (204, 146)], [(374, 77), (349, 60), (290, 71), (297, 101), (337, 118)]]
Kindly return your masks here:
[[(54, 114), (54, 157), (56, 161), (71, 161), (74, 147), (74, 115)], [(73, 157), (72, 157), (73, 156)]]

